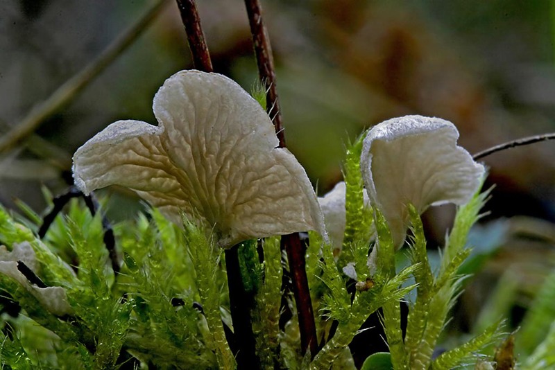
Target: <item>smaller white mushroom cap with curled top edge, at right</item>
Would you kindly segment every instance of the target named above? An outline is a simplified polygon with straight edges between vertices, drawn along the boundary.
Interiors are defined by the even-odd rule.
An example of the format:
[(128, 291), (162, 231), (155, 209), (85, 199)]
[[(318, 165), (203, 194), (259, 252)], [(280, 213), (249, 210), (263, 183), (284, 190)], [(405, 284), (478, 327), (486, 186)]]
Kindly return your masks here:
[(392, 118), (368, 131), (361, 154), (364, 184), (396, 247), (406, 234), (407, 204), (418, 213), (430, 205), (464, 204), (479, 187), (484, 166), (456, 146), (458, 138), (449, 121), (422, 116)]

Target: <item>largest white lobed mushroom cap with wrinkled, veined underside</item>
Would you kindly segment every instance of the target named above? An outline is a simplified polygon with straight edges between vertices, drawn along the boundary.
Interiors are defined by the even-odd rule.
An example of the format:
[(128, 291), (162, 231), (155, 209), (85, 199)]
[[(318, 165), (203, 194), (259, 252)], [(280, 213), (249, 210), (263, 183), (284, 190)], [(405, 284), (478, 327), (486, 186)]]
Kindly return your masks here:
[(154, 97), (158, 125), (118, 121), (74, 155), (76, 186), (88, 194), (133, 189), (173, 222), (202, 219), (221, 247), (307, 229), (325, 236), (304, 168), (268, 114), (236, 82), (180, 71)]

